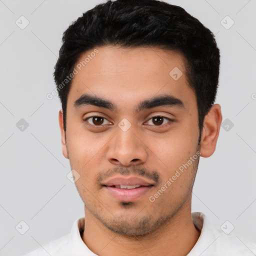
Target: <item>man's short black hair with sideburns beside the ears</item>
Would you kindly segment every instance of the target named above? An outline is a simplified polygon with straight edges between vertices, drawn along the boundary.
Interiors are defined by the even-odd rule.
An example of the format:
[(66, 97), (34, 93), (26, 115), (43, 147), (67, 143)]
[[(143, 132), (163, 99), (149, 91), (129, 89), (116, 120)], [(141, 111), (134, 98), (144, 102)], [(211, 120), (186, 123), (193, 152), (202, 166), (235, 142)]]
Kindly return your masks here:
[(107, 45), (152, 46), (179, 52), (185, 59), (189, 86), (196, 95), (201, 135), (204, 116), (216, 97), (219, 49), (214, 34), (198, 19), (180, 6), (159, 0), (108, 0), (84, 12), (64, 31), (54, 70), (64, 130), (67, 95), (72, 82), (66, 77), (73, 72), (82, 53)]

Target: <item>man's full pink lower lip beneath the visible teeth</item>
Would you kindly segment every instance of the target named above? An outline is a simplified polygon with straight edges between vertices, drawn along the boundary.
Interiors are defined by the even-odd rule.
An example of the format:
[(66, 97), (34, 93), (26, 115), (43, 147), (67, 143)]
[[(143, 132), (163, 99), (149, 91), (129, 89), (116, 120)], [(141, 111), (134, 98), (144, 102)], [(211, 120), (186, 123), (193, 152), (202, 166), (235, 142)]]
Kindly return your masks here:
[(117, 188), (113, 186), (104, 186), (104, 187), (117, 200), (123, 201), (123, 202), (130, 202), (130, 201), (135, 201), (141, 195), (145, 194), (147, 191), (150, 190), (152, 186), (151, 185), (140, 186), (132, 189)]

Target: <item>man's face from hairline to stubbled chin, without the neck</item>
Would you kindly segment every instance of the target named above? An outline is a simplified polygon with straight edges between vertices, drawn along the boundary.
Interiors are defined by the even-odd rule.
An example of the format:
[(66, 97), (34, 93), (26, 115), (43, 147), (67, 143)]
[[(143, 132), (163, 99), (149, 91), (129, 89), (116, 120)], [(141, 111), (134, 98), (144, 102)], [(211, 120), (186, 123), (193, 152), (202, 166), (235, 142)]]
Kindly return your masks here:
[(77, 61), (93, 55), (72, 80), (62, 150), (79, 177), (85, 216), (143, 235), (190, 210), (200, 154), (196, 95), (177, 52), (97, 50)]

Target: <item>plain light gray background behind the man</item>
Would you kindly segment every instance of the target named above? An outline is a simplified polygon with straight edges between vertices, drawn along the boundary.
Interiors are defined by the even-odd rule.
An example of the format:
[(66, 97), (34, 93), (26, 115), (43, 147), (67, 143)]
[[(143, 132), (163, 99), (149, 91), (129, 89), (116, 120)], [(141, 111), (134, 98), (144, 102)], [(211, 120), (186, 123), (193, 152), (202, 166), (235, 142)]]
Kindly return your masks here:
[[(63, 31), (100, 2), (0, 0), (0, 255), (22, 255), (69, 233), (84, 214), (66, 177), (70, 166), (60, 147), (60, 102), (46, 94), (55, 88), (52, 72)], [(256, 242), (256, 1), (167, 2), (212, 30), (221, 52), (216, 103), (228, 120), (214, 154), (200, 157), (192, 211), (204, 212), (217, 226), (228, 220), (232, 233)], [(24, 29), (15, 23), (21, 15), (29, 21)], [(226, 15), (234, 21), (228, 29), (222, 25), (231, 24)], [(17, 127), (22, 123), (16, 126), (21, 118), (29, 125), (23, 131)], [(29, 226), (24, 234), (21, 220)]]

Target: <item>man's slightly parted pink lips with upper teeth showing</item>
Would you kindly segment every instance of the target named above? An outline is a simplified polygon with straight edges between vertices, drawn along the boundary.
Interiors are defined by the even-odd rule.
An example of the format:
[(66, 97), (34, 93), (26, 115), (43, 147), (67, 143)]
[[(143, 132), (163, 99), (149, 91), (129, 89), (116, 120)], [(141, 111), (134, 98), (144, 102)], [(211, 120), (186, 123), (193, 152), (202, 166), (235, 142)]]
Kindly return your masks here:
[(102, 187), (116, 200), (131, 202), (147, 193), (153, 185), (147, 180), (138, 177), (116, 177), (102, 184)]

